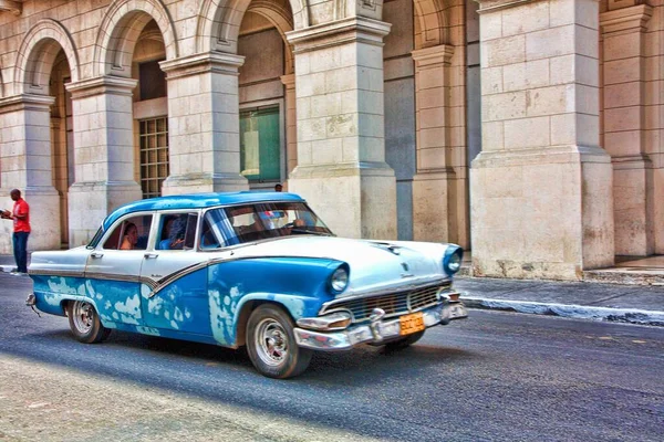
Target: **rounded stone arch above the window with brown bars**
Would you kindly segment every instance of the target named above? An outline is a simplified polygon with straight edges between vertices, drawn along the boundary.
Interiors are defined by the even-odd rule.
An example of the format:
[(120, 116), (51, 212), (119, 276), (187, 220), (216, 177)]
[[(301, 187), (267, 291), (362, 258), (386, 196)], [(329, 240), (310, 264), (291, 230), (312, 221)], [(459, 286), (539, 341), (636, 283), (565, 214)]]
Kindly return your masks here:
[[(133, 6), (133, 9), (128, 9)], [(93, 76), (132, 75), (132, 54), (145, 25), (154, 20), (164, 39), (166, 59), (179, 56), (173, 18), (160, 0), (116, 0), (113, 2), (97, 33)]]

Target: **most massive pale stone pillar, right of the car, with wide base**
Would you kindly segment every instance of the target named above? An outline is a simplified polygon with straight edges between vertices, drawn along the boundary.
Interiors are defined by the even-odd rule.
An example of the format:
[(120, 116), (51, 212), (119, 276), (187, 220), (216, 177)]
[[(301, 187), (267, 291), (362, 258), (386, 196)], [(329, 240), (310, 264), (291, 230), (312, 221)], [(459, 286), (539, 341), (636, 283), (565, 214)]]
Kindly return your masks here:
[(595, 0), (480, 0), (483, 151), (473, 161), (476, 275), (579, 280), (614, 259), (599, 147)]

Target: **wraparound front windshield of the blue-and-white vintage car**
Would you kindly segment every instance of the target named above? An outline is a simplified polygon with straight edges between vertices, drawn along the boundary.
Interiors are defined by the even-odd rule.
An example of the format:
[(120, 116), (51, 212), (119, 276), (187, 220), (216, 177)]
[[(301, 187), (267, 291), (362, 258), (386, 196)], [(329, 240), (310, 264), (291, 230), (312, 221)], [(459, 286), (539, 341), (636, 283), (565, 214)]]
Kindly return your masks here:
[(303, 202), (266, 202), (212, 209), (205, 214), (201, 233), (201, 249), (294, 234), (332, 234)]

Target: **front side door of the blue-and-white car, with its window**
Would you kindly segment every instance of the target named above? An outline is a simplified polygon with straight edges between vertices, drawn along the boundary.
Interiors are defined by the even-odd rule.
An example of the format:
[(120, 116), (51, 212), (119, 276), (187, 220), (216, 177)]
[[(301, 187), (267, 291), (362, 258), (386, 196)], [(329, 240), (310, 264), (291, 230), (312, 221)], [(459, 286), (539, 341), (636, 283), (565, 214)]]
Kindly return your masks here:
[(142, 308), (148, 327), (211, 335), (207, 254), (196, 250), (198, 220), (198, 211), (167, 211), (155, 222), (153, 246), (144, 253), (141, 266)]

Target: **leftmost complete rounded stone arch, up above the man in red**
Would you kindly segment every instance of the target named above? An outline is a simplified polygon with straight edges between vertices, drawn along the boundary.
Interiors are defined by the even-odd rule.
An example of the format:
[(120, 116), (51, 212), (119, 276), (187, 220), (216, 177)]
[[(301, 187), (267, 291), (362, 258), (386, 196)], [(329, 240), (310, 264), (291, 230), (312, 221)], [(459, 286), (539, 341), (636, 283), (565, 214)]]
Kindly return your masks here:
[(79, 54), (66, 29), (55, 20), (37, 22), (19, 48), (14, 69), (14, 94), (49, 95), (51, 67), (60, 50), (64, 51), (73, 82), (80, 80)]

